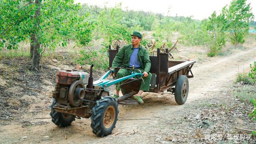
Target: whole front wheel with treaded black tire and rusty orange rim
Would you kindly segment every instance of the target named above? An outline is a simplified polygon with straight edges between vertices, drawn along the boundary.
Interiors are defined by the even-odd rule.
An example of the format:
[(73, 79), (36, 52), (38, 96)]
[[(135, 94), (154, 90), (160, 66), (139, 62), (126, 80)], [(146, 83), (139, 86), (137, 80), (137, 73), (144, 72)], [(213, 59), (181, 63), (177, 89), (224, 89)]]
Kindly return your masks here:
[(96, 101), (92, 111), (92, 132), (100, 137), (111, 134), (119, 113), (116, 100), (110, 96), (101, 97)]

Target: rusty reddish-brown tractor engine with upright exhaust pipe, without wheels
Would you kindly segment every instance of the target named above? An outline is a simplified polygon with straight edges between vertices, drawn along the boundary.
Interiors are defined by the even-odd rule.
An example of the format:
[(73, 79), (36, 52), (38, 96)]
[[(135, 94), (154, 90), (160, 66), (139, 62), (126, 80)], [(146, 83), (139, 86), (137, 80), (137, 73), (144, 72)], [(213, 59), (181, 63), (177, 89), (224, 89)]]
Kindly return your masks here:
[(53, 108), (57, 112), (90, 118), (92, 108), (101, 96), (109, 96), (104, 89), (94, 89), (92, 67), (90, 74), (82, 70), (59, 70), (52, 98), (56, 100)]

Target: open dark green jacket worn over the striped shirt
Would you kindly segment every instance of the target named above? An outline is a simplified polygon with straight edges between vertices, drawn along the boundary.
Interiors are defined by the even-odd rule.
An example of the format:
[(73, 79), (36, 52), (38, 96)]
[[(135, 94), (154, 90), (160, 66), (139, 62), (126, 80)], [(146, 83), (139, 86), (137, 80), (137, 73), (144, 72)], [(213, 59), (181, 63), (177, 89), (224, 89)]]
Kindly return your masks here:
[[(132, 44), (128, 44), (123, 46), (120, 51), (116, 54), (112, 62), (112, 68), (114, 67), (126, 67), (129, 68), (130, 66), (130, 56), (134, 49), (132, 48)], [(148, 50), (140, 45), (139, 52), (138, 52), (138, 61), (140, 62), (141, 68), (144, 69), (145, 72), (149, 72), (151, 62), (148, 55)]]

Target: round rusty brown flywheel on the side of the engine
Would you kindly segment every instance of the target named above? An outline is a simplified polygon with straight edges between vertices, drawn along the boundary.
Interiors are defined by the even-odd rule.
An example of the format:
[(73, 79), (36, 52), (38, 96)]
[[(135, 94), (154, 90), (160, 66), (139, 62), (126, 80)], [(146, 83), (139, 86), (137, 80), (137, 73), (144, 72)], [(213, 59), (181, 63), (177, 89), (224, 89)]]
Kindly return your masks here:
[(80, 106), (80, 104), (82, 104), (82, 100), (80, 98), (78, 98), (77, 95), (77, 90), (79, 88), (85, 88), (84, 83), (81, 80), (76, 80), (75, 82), (73, 82), (69, 88), (68, 91), (68, 100), (69, 103), (72, 106)]

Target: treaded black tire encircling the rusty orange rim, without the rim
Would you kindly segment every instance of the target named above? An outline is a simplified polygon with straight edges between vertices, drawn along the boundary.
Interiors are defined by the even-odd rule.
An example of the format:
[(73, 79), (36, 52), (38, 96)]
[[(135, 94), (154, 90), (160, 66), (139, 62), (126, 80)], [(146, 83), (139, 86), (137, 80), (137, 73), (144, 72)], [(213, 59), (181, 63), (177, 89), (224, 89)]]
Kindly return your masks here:
[[(104, 113), (108, 106), (113, 106), (116, 112), (116, 116), (114, 119), (114, 123), (110, 128), (105, 128), (103, 118)], [(100, 137), (108, 136), (111, 134), (112, 130), (116, 127), (116, 121), (118, 118), (118, 103), (116, 100), (110, 96), (101, 97), (100, 100), (96, 101), (96, 105), (92, 108), (92, 116), (91, 116), (91, 128), (92, 132)]]

